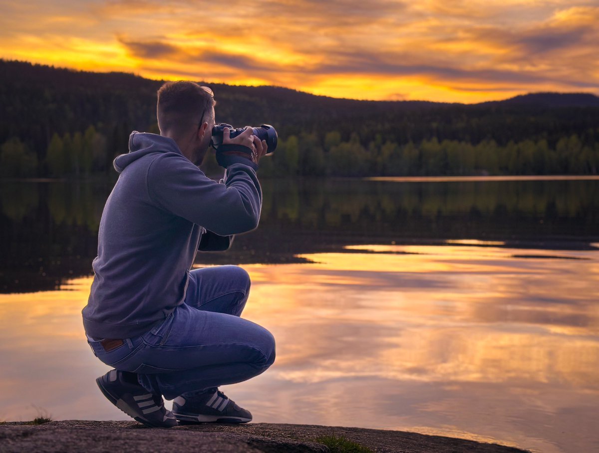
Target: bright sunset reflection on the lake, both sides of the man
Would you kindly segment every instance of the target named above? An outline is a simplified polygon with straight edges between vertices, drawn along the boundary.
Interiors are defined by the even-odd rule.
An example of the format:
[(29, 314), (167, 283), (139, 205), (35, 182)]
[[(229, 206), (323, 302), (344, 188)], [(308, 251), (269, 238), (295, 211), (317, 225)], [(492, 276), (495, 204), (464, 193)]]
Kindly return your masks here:
[[(277, 361), (228, 393), (255, 421), (397, 428), (594, 451), (599, 251), (354, 245), (251, 264), (244, 317)], [(0, 295), (0, 418), (114, 419), (83, 340), (89, 278)], [(123, 416), (124, 419), (124, 416)]]

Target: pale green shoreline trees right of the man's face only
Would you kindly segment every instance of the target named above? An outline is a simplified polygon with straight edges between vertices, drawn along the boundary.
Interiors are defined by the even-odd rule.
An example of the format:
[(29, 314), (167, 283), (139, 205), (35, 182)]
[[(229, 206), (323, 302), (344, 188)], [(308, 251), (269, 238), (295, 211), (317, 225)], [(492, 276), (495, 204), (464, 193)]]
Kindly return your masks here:
[[(204, 170), (219, 172), (214, 156), (208, 156)], [(266, 177), (596, 175), (598, 170), (599, 143), (585, 143), (576, 134), (560, 138), (554, 147), (546, 139), (501, 146), (494, 140), (474, 145), (436, 137), (401, 145), (381, 135), (363, 145), (358, 133), (343, 141), (334, 130), (323, 139), (314, 133), (292, 135), (260, 162), (260, 175)]]

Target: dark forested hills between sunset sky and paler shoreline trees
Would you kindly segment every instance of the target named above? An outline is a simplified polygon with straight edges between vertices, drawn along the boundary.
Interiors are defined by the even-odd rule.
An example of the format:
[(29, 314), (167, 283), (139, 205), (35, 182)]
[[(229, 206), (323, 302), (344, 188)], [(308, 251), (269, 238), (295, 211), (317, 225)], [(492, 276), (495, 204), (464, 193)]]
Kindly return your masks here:
[[(17, 138), (34, 150), (38, 162), (44, 165), (55, 133), (72, 137), (93, 126), (105, 138), (108, 150), (122, 150), (131, 130), (158, 131), (156, 91), (162, 83), (123, 72), (76, 71), (0, 59), (0, 145)], [(599, 98), (588, 93), (530, 93), (504, 101), (449, 104), (358, 101), (276, 86), (209, 84), (216, 93), (219, 122), (235, 126), (272, 124), (282, 138), (301, 136), (304, 148), (328, 149), (335, 141), (350, 143), (357, 139), (364, 155), (362, 158), (356, 154), (358, 163), (348, 163), (348, 168), (367, 162), (373, 154), (371, 144), (373, 150), (378, 150), (385, 142), (389, 147), (410, 143), (419, 147), (423, 141), (435, 139), (434, 147), (444, 141), (473, 146), (491, 142), (491, 147), (507, 147), (512, 142), (531, 141), (535, 146), (546, 142), (552, 150), (564, 138), (574, 137), (573, 143), (578, 140), (589, 150), (599, 143)], [(329, 136), (326, 145), (325, 138), (331, 132), (337, 135)], [(404, 159), (400, 155), (404, 151), (389, 147), (386, 152), (395, 153), (394, 159), (401, 161), (397, 164), (398, 174), (422, 174), (424, 170), (417, 167), (429, 162), (449, 166), (449, 158), (444, 155), (438, 162), (422, 153)], [(475, 163), (469, 163), (470, 167), (479, 165), (479, 151), (473, 155)], [(304, 156), (302, 151), (299, 156)], [(111, 168), (112, 156), (108, 157), (105, 167)], [(413, 168), (406, 167), (402, 159), (416, 163)], [(364, 174), (377, 174), (377, 165), (370, 165)], [(569, 168), (564, 171), (574, 172)], [(592, 174), (595, 171), (594, 166), (589, 170)], [(464, 172), (462, 169), (458, 174)]]

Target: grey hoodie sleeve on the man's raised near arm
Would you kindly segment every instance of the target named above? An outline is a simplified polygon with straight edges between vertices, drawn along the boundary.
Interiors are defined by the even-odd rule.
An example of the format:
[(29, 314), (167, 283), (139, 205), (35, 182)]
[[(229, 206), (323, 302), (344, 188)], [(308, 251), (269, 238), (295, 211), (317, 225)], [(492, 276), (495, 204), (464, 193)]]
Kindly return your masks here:
[(241, 163), (229, 166), (225, 184), (219, 184), (186, 157), (162, 154), (148, 168), (147, 190), (150, 199), (162, 209), (219, 236), (258, 226), (262, 191), (256, 172)]

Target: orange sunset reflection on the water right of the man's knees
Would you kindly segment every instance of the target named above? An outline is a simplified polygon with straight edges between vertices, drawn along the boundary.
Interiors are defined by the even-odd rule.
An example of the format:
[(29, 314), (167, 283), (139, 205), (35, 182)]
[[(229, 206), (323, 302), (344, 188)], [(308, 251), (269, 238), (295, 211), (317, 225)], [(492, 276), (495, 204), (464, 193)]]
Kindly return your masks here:
[(310, 417), (286, 421), (588, 449), (599, 404), (597, 251), (347, 249), (246, 266), (246, 314), (277, 338), (270, 378), (289, 398), (313, 396), (299, 403)]

